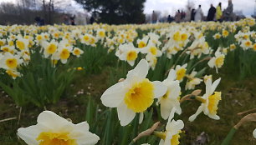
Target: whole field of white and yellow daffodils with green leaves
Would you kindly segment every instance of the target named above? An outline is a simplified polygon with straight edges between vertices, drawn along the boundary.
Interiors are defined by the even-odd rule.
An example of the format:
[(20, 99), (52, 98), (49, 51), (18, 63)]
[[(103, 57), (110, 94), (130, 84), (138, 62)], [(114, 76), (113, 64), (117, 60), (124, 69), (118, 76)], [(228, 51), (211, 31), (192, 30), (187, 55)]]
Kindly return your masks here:
[(250, 18), (0, 26), (7, 145), (255, 144), (255, 88)]

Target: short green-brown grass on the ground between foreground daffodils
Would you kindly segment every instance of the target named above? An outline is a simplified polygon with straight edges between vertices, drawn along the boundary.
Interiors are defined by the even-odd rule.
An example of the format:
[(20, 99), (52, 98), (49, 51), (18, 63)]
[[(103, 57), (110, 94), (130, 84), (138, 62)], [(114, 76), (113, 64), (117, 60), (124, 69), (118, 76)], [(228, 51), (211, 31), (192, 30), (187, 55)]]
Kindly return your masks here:
[[(106, 71), (97, 75), (77, 76), (61, 101), (46, 108), (62, 117), (71, 118), (74, 123), (84, 121), (88, 97), (91, 96), (96, 99), (96, 102), (100, 103), (100, 96), (108, 87), (109, 74), (110, 72), (106, 69)], [(185, 103), (182, 105), (183, 112), (181, 116), (185, 123), (185, 135), (182, 136), (181, 140), (182, 145), (195, 143), (202, 132), (208, 138), (208, 142), (204, 144), (220, 144), (228, 134), (229, 129), (242, 118), (237, 113), (256, 107), (256, 77), (243, 81), (238, 81), (236, 77), (227, 73), (221, 73), (214, 77), (222, 77), (222, 82), (217, 89), (223, 92), (223, 100), (220, 102), (218, 110), (221, 119), (215, 121), (201, 114), (194, 122), (188, 122), (188, 117), (196, 112), (199, 103), (196, 101)], [(17, 129), (35, 124), (38, 114), (42, 111), (43, 109), (33, 106), (23, 107), (19, 124), (18, 119), (0, 122), (0, 143), (4, 145), (20, 144), (16, 136)], [(18, 117), (18, 114), (19, 107), (16, 107), (13, 100), (7, 97), (4, 92), (1, 92), (0, 119)], [(254, 128), (256, 128), (255, 123), (239, 128), (238, 133), (233, 138), (232, 145), (256, 144), (256, 139), (253, 138), (252, 134)]]

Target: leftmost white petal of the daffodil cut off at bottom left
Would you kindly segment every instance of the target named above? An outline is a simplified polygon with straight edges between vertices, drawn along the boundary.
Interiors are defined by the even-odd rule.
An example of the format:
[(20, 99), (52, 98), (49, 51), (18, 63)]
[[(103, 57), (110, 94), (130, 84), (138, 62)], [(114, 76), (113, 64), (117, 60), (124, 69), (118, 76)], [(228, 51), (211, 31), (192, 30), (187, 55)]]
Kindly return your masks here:
[(37, 125), (30, 126), (28, 128), (18, 128), (18, 137), (29, 145), (38, 145), (38, 135), (42, 132), (41, 128)]

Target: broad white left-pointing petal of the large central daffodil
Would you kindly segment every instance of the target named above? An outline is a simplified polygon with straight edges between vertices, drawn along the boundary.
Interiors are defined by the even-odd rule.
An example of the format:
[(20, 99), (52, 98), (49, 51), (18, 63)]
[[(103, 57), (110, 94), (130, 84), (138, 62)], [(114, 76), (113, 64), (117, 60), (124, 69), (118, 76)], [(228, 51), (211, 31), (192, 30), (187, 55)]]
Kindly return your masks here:
[(118, 107), (125, 97), (124, 82), (109, 87), (100, 97), (106, 107)]

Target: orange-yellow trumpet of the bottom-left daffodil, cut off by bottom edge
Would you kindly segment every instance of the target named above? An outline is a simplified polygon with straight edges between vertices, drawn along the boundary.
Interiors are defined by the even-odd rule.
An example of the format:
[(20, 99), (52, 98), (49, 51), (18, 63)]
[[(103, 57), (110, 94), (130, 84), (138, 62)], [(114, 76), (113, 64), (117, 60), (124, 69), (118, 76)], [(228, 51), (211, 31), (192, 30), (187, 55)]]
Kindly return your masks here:
[(39, 145), (77, 145), (74, 139), (69, 138), (69, 133), (40, 133)]

